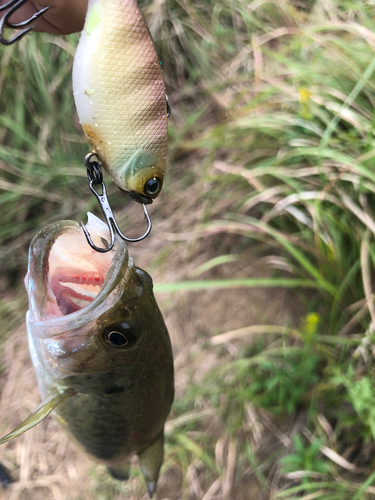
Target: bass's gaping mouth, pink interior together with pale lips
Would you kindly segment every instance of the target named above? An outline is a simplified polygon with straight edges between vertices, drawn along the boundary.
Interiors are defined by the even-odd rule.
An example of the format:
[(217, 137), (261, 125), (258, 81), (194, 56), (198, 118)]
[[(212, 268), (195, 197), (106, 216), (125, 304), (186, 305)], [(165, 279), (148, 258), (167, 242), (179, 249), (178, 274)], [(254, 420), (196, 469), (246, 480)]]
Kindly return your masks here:
[[(86, 228), (98, 246), (110, 240), (108, 226), (88, 213)], [(115, 234), (112, 250), (99, 253), (75, 221), (59, 221), (36, 234), (30, 244), (25, 286), (28, 325), (50, 338), (81, 328), (114, 307), (133, 266), (125, 242)], [(68, 320), (68, 321), (67, 321)], [(31, 330), (30, 330), (31, 331)]]

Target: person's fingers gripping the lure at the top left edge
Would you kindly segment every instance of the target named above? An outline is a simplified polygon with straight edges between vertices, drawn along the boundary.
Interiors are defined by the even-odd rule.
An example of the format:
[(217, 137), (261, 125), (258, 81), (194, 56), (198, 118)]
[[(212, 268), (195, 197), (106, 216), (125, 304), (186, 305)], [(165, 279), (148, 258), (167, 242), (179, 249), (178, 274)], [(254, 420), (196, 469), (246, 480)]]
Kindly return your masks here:
[[(9, 0), (0, 0), (0, 6)], [(44, 7), (47, 12), (34, 21), (33, 31), (43, 31), (53, 35), (68, 35), (81, 31), (85, 22), (88, 0), (41, 0), (28, 1), (11, 16), (10, 22), (19, 23), (29, 19)], [(7, 11), (5, 11), (7, 12)], [(0, 12), (0, 19), (5, 14)]]

